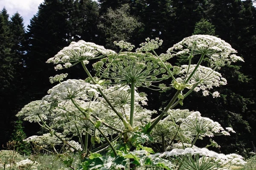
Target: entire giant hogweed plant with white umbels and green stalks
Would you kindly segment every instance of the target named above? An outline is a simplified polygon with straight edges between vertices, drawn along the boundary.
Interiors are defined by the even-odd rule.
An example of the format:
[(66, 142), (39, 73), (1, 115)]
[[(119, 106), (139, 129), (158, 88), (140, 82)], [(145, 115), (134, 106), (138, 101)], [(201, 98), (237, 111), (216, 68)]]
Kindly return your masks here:
[[(81, 64), (88, 78), (50, 77), (50, 82), (58, 84), (17, 114), (48, 130), (26, 141), (57, 154), (71, 169), (76, 169), (73, 154), (79, 153), (79, 170), (229, 170), (245, 164), (237, 154), (208, 149), (220, 147), (213, 136), (235, 133), (231, 127), (224, 129), (198, 111), (175, 109), (186, 103), (190, 93), (218, 97), (214, 87), (227, 84), (218, 69), (243, 59), (227, 42), (209, 35), (187, 37), (158, 55), (155, 49), (162, 42), (147, 38), (136, 52), (131, 52), (134, 45), (128, 42), (114, 42), (121, 48), (119, 53), (92, 42), (71, 42), (47, 63), (56, 64), (56, 70)], [(196, 55), (199, 59), (192, 65)], [(186, 56), (189, 62), (172, 66), (168, 60), (176, 56)], [(204, 58), (209, 59), (210, 68), (201, 65)], [(95, 75), (87, 69), (93, 59), (98, 59), (93, 63)], [(166, 79), (172, 84), (164, 84)], [(176, 93), (165, 108), (151, 111), (144, 107), (147, 95), (140, 87), (172, 88)], [(204, 137), (209, 144), (196, 147)]]

